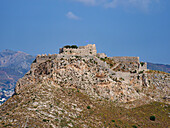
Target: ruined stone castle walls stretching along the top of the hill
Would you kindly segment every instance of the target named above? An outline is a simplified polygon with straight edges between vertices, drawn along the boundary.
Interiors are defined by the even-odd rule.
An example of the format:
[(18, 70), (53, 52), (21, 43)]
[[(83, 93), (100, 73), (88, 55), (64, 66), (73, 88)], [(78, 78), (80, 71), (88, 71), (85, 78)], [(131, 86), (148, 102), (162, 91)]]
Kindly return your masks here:
[(88, 44), (86, 46), (80, 46), (80, 47), (76, 46), (76, 48), (63, 47), (63, 48), (59, 49), (59, 54), (38, 55), (35, 60), (36, 63), (34, 63), (33, 65), (37, 65), (37, 64), (45, 62), (49, 59), (63, 58), (63, 57), (70, 58), (71, 56), (96, 56), (98, 58), (109, 58), (110, 60), (117, 63), (117, 65), (121, 64), (121, 63), (129, 63), (129, 65), (137, 64), (138, 65), (137, 68), (139, 71), (147, 70), (147, 63), (140, 62), (139, 57), (126, 57), (126, 56), (107, 57), (106, 54), (104, 54), (104, 53), (97, 53), (95, 44)]

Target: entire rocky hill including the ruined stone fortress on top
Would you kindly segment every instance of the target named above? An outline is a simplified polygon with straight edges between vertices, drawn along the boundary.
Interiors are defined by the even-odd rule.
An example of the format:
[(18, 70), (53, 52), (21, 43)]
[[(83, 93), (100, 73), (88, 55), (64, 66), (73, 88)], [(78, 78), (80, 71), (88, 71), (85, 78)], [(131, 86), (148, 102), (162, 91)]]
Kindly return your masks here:
[[(170, 74), (148, 70), (139, 57), (107, 57), (91, 44), (67, 46), (36, 57), (1, 106), (0, 121), (11, 127), (167, 127), (169, 88)], [(153, 123), (147, 114), (161, 118)]]

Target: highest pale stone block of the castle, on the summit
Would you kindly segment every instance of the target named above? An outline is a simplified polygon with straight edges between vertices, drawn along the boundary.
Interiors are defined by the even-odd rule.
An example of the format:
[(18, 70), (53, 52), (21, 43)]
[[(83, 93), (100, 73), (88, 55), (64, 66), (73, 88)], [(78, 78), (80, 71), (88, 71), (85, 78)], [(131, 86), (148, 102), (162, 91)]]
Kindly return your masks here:
[(67, 55), (91, 55), (94, 56), (97, 54), (95, 44), (88, 44), (86, 46), (80, 46), (78, 48), (60, 48), (60, 54)]

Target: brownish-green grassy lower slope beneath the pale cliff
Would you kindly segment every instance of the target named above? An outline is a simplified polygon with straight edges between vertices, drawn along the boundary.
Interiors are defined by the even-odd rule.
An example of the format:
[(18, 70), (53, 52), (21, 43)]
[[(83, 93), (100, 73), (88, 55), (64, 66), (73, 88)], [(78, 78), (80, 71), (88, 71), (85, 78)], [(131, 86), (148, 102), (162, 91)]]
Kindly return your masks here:
[[(36, 89), (36, 86), (29, 86), (22, 92), (25, 97), (25, 100), (22, 99), (19, 95), (14, 95), (11, 97), (8, 102), (3, 104), (0, 109), (0, 113), (2, 117), (6, 116), (6, 119), (16, 119), (17, 124), (20, 122), (26, 122), (26, 116), (23, 114), (34, 115), (36, 118), (29, 119), (28, 127), (31, 126), (39, 126), (39, 127), (47, 127), (52, 123), (55, 122), (56, 126), (68, 126), (72, 124), (73, 127), (83, 127), (82, 123), (84, 120), (84, 124), (88, 127), (146, 127), (146, 128), (155, 128), (155, 127), (167, 127), (169, 122), (169, 117), (167, 113), (170, 111), (169, 105), (159, 102), (153, 102), (150, 104), (142, 105), (137, 108), (133, 109), (126, 109), (122, 107), (117, 107), (116, 102), (110, 102), (104, 99), (93, 99), (90, 98), (88, 95), (83, 94), (82, 92), (78, 91), (77, 89), (62, 87), (62, 88), (54, 88), (53, 86), (43, 85), (41, 88)], [(51, 91), (49, 91), (49, 89)], [(27, 93), (29, 91), (29, 93)], [(50, 94), (49, 96), (45, 94)], [(35, 97), (35, 101), (32, 99)], [(53, 96), (52, 98), (50, 96)], [(15, 101), (15, 102), (14, 102)], [(28, 102), (30, 101), (30, 102)], [(37, 107), (36, 110), (38, 111), (29, 111), (26, 108), (34, 109), (32, 106), (33, 102), (40, 101), (45, 103), (46, 107), (41, 108)], [(61, 102), (62, 101), (62, 102)], [(76, 102), (75, 102), (76, 101)], [(139, 101), (140, 102), (140, 101)], [(70, 106), (70, 103), (75, 104), (74, 106)], [(19, 106), (17, 104), (20, 104)], [(40, 105), (40, 104), (38, 104)], [(25, 107), (23, 107), (25, 106)], [(87, 107), (84, 107), (87, 106)], [(90, 107), (93, 106), (93, 107)], [(58, 108), (60, 108), (58, 110)], [(81, 114), (79, 114), (76, 109), (81, 108)], [(87, 111), (88, 109), (88, 111)], [(159, 110), (159, 111), (158, 111)], [(12, 111), (12, 113), (11, 113)], [(6, 113), (10, 113), (6, 115)], [(36, 113), (34, 113), (36, 112)], [(51, 112), (54, 116), (53, 118), (49, 118)], [(17, 113), (22, 113), (18, 115)], [(46, 115), (42, 113), (47, 113)], [(71, 118), (67, 115), (67, 113), (76, 113), (77, 116)], [(149, 115), (154, 115), (157, 118), (157, 121), (150, 121), (154, 120), (154, 117), (150, 117)], [(150, 119), (148, 119), (150, 117)], [(57, 118), (57, 119), (56, 119)], [(69, 118), (69, 119), (68, 119)], [(110, 120), (113, 119), (113, 120)], [(1, 119), (2, 120), (2, 119)], [(2, 121), (3, 123), (4, 121)], [(71, 123), (71, 122), (76, 122)], [(101, 122), (102, 126), (98, 126), (97, 122)], [(8, 125), (8, 121), (5, 123), (0, 123), (0, 127), (4, 127)], [(13, 127), (17, 127), (14, 122), (11, 122)]]

